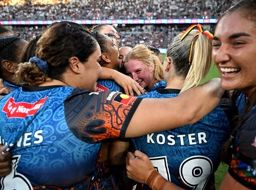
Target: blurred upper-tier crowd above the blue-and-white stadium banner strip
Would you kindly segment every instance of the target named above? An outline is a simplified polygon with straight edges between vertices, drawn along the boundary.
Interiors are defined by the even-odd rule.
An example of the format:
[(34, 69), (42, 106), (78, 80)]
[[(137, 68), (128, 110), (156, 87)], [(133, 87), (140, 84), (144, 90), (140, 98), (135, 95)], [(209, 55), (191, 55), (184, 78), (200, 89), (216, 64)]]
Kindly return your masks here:
[[(232, 1), (233, 2), (233, 1)], [(2, 20), (216, 18), (230, 0), (2, 0)]]

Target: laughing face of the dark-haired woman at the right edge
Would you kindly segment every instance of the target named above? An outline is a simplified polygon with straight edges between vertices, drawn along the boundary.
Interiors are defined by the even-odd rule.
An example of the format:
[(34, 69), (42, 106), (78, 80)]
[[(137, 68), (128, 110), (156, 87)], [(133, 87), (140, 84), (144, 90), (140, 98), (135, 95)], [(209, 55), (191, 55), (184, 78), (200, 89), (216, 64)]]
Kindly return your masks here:
[(226, 90), (250, 94), (256, 89), (256, 23), (233, 12), (224, 16), (215, 30), (213, 60)]

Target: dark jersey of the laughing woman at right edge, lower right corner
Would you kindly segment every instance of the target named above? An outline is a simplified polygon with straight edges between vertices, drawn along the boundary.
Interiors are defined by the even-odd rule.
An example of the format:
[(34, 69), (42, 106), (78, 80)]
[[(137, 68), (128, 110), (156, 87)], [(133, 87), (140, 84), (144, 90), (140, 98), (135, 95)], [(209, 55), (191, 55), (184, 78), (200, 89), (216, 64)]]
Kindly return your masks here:
[(256, 106), (237, 130), (236, 152), (229, 173), (242, 185), (256, 189)]

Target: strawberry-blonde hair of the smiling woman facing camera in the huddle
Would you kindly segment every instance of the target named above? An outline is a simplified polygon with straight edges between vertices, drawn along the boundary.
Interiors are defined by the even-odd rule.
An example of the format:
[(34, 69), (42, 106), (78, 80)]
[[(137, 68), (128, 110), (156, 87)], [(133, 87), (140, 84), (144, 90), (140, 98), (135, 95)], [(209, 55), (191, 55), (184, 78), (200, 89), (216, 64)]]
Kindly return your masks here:
[(159, 58), (151, 53), (151, 51), (143, 44), (132, 48), (132, 50), (126, 55), (125, 63), (129, 60), (137, 60), (143, 62), (147, 67), (154, 64), (154, 79), (163, 80), (163, 65), (159, 61)]

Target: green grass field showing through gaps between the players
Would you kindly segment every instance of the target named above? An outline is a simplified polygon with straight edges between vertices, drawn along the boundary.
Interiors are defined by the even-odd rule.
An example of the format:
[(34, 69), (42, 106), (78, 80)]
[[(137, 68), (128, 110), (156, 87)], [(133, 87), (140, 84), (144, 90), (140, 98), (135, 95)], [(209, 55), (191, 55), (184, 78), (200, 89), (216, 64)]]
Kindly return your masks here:
[[(163, 58), (165, 59), (165, 55), (163, 54)], [(211, 69), (207, 76), (200, 82), (200, 84), (203, 84), (207, 82), (208, 80), (211, 80), (212, 78), (219, 78), (219, 72), (217, 67), (215, 66), (214, 62), (211, 64)], [(226, 173), (228, 171), (228, 165), (226, 164), (220, 164), (218, 167), (218, 170), (215, 172), (215, 187), (216, 190), (218, 190), (218, 187), (220, 186), (223, 178), (225, 177)]]

